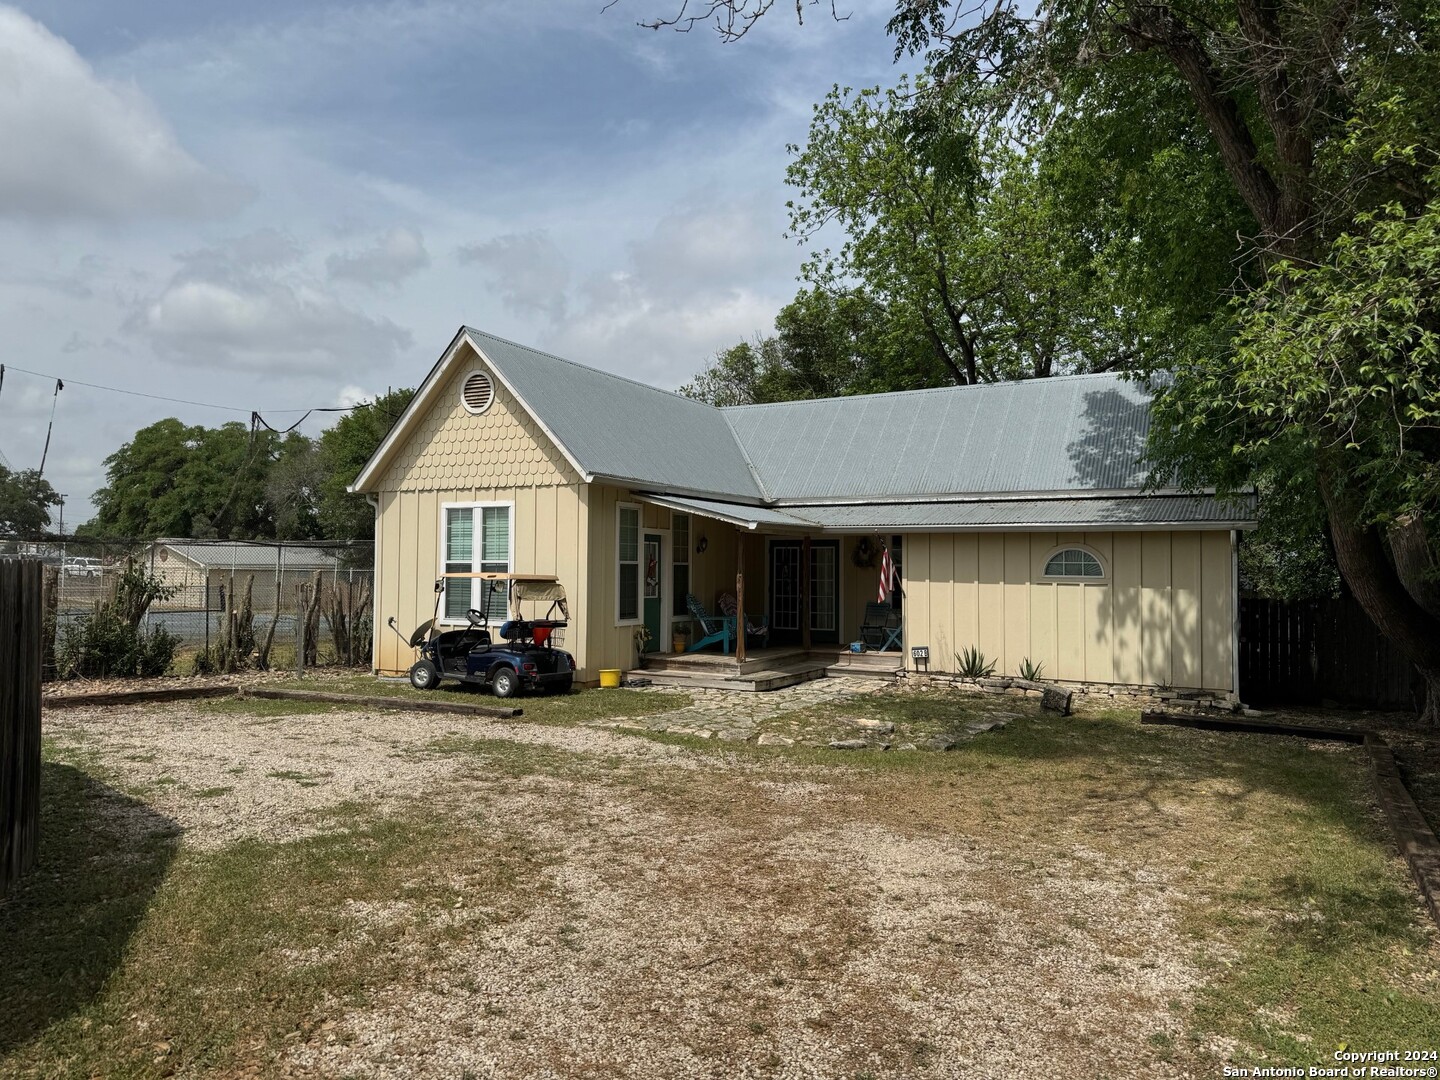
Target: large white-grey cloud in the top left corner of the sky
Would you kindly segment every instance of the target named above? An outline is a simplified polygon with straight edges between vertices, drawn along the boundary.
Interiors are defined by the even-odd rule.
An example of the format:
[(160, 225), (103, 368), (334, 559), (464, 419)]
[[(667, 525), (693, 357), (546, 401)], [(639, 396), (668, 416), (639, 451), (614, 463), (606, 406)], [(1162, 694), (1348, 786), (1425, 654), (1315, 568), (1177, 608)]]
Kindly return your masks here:
[(40, 23), (0, 6), (0, 215), (197, 217), (249, 199), (196, 161), (150, 101), (101, 79)]

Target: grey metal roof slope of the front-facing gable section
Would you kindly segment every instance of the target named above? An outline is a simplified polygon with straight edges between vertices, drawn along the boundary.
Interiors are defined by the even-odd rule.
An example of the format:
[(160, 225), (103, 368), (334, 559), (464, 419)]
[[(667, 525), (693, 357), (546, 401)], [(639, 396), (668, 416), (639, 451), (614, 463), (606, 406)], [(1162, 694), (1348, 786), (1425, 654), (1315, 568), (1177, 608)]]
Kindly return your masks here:
[(760, 498), (720, 409), (465, 328), (495, 373), (595, 477)]

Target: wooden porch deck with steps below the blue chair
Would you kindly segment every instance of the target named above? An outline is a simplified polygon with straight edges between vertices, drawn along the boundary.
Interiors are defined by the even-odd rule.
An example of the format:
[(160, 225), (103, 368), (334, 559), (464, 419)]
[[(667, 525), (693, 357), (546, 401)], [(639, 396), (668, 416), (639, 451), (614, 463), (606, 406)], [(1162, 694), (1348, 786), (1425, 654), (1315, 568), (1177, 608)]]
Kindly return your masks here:
[(782, 690), (827, 675), (888, 678), (904, 667), (899, 652), (850, 652), (837, 647), (775, 645), (749, 649), (742, 664), (719, 652), (652, 654), (628, 678), (648, 678), (655, 685), (693, 690)]

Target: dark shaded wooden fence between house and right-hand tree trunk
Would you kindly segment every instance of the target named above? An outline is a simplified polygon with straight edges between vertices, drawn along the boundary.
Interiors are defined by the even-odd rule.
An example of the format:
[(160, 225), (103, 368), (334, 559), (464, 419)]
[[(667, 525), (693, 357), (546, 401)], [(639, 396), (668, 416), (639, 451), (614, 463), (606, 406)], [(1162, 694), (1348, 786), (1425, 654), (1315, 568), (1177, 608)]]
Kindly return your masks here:
[(1414, 708), (1414, 665), (1354, 596), (1240, 600), (1240, 698), (1251, 706)]

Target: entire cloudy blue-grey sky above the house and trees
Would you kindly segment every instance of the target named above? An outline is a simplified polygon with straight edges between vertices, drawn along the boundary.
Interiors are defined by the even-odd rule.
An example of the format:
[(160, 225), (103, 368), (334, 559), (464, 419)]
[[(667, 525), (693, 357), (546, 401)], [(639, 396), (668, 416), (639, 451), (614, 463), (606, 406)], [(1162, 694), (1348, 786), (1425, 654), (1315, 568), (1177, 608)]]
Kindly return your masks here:
[(894, 79), (891, 3), (737, 45), (602, 6), (0, 3), (0, 462), (39, 464), (52, 406), (16, 369), (68, 380), (71, 526), (138, 428), (413, 386), (462, 323), (667, 387), (768, 330), (785, 147)]

